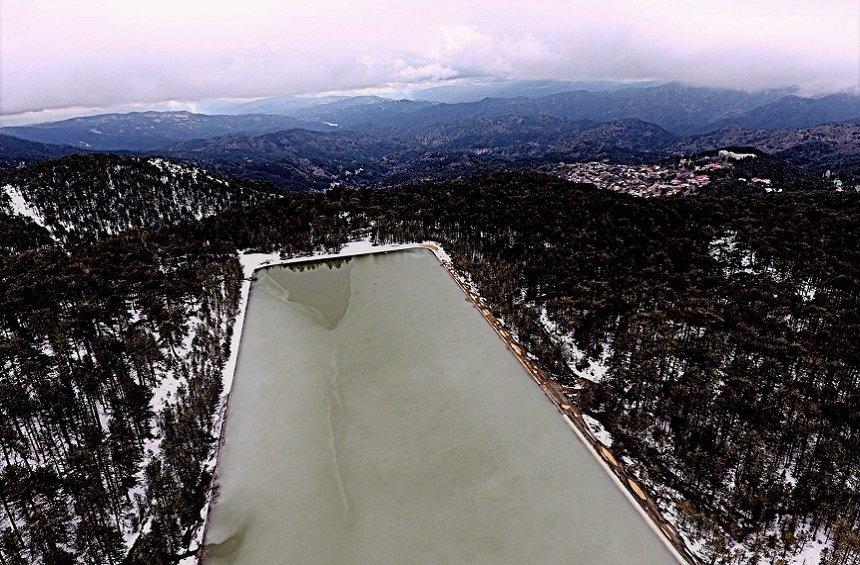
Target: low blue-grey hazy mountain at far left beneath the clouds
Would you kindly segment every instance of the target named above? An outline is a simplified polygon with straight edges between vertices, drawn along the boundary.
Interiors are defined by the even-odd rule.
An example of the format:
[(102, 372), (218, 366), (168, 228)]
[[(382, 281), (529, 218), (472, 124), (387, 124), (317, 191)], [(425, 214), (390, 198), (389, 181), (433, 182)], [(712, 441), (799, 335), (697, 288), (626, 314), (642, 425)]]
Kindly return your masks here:
[(189, 139), (231, 134), (255, 135), (295, 127), (326, 128), (288, 116), (132, 112), (10, 127), (4, 128), (2, 132), (31, 141), (86, 149), (146, 151)]

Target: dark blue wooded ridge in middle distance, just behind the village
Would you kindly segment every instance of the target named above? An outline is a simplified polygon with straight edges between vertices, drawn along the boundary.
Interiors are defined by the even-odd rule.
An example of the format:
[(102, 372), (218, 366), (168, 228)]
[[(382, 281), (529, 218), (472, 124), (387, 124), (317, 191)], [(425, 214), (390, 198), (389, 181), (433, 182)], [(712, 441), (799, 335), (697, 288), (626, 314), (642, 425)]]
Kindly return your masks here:
[(498, 116), (432, 127), (290, 130), (178, 143), (162, 152), (221, 173), (288, 188), (396, 184), (446, 179), (558, 160), (649, 160), (676, 136), (636, 120), (599, 123), (546, 116)]

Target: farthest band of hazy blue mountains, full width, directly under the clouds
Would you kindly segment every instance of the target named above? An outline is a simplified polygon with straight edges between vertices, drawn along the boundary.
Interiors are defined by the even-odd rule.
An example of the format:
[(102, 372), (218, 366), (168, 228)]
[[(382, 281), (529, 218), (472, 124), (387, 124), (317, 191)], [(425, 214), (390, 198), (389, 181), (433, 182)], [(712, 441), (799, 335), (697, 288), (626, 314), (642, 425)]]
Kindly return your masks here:
[[(318, 131), (374, 126), (415, 128), (471, 118), (547, 116), (595, 122), (641, 120), (675, 135), (693, 135), (730, 125), (747, 129), (787, 129), (860, 119), (860, 96), (837, 93), (806, 98), (787, 90), (742, 92), (670, 83), (460, 103), (392, 100), (379, 96), (273, 97), (240, 104), (233, 111), (236, 113), (229, 115), (104, 114), (5, 128), (0, 133), (89, 149), (148, 151), (191, 139), (262, 135), (293, 128)], [(261, 111), (276, 113), (258, 113)]]

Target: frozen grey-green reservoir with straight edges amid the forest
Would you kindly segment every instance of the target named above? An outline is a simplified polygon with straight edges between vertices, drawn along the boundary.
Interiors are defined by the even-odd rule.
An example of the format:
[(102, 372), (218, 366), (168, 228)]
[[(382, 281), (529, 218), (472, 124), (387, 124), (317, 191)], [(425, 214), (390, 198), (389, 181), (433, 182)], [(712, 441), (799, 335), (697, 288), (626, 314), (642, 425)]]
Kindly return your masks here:
[(677, 563), (426, 249), (258, 271), (222, 564)]

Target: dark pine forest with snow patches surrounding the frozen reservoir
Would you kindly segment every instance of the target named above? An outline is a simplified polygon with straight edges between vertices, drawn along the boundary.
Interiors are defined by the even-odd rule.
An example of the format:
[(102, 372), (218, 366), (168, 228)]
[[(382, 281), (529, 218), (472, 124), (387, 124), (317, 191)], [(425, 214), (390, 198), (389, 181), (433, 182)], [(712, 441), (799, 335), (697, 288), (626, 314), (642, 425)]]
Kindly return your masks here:
[(365, 235), (441, 242), (702, 562), (860, 561), (856, 195), (641, 199), (503, 174), (152, 228), (56, 240), (0, 214), (20, 233), (0, 255), (4, 563), (197, 550), (237, 252)]

